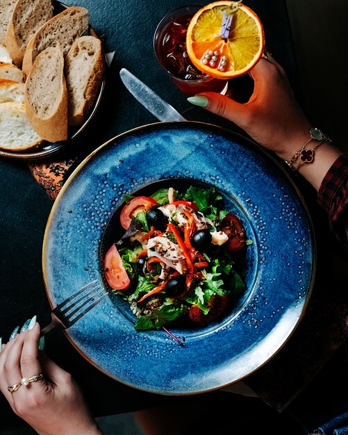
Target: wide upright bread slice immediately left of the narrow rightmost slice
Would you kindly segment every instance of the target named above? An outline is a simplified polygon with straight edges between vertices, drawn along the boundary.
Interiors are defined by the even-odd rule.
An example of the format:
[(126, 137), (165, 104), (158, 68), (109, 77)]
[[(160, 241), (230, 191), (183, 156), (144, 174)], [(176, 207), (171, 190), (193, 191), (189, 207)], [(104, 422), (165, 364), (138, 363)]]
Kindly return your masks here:
[(35, 59), (25, 88), (26, 113), (45, 140), (67, 139), (67, 86), (60, 45), (47, 47)]

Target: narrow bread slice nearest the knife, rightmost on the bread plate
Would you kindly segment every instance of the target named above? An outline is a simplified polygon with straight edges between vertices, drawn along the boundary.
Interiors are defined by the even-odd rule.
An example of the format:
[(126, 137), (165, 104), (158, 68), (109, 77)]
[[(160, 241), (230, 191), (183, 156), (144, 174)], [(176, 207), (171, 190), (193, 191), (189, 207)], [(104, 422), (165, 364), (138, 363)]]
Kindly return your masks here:
[(69, 125), (78, 126), (85, 121), (97, 97), (103, 73), (101, 41), (94, 36), (81, 36), (75, 40), (65, 58)]

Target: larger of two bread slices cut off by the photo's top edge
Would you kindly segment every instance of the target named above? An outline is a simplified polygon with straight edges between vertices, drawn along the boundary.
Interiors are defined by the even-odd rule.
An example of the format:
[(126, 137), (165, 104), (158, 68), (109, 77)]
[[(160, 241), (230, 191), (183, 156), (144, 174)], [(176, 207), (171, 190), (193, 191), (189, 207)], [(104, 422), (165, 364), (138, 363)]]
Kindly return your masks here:
[(6, 47), (15, 65), (22, 67), (29, 40), (51, 17), (51, 0), (17, 0), (6, 33)]

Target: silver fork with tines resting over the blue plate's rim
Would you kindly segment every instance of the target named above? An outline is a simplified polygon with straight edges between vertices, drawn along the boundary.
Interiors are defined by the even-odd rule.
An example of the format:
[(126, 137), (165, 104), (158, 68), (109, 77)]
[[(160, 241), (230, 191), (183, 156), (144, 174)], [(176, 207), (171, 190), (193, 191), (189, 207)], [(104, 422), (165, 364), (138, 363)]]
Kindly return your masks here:
[(44, 336), (56, 327), (62, 329), (71, 327), (85, 313), (88, 313), (90, 309), (99, 304), (106, 295), (108, 295), (106, 288), (99, 284), (97, 279), (94, 279), (94, 281), (80, 288), (74, 295), (68, 297), (53, 309), (51, 312), (52, 321), (41, 330), (40, 336)]

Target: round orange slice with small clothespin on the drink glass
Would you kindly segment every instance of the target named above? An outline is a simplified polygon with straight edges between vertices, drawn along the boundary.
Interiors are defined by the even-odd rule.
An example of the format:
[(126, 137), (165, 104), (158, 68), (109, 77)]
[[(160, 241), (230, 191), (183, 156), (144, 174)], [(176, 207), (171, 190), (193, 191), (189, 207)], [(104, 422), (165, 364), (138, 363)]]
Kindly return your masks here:
[[(231, 20), (230, 28), (224, 23)], [(192, 17), (186, 48), (201, 72), (217, 79), (232, 79), (249, 72), (265, 47), (259, 17), (238, 1), (215, 1)]]

